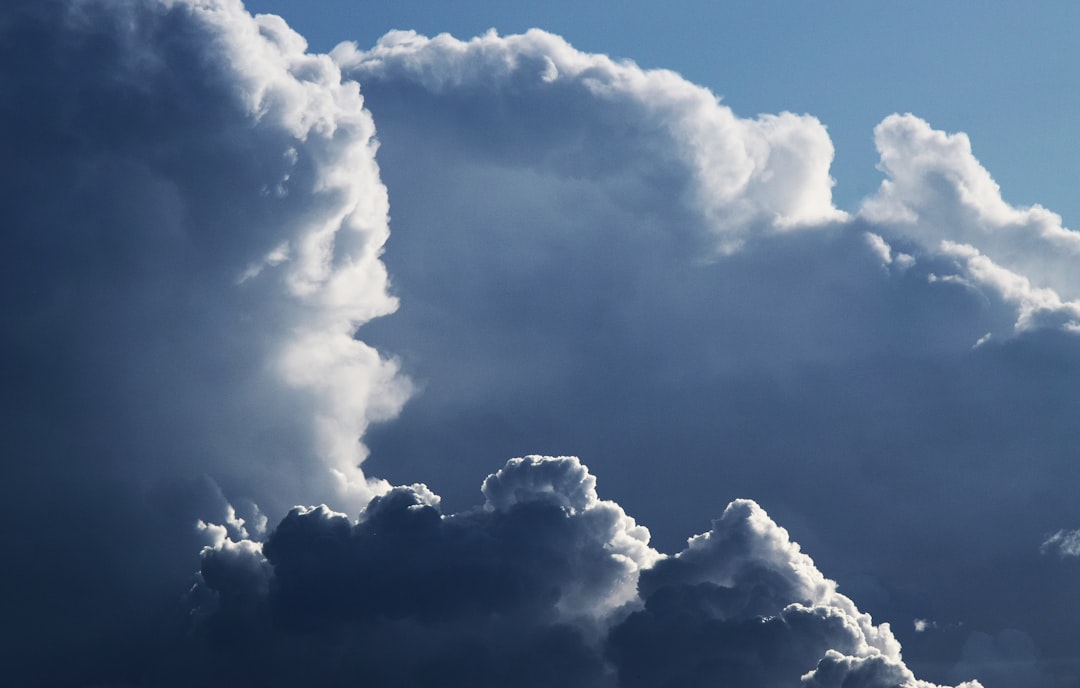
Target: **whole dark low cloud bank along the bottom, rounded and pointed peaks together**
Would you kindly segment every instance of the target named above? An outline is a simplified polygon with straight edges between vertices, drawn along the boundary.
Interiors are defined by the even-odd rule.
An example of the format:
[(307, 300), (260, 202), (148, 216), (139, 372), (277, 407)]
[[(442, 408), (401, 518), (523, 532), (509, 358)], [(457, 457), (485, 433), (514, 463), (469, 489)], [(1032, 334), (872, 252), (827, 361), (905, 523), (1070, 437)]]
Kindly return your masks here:
[(213, 651), (260, 635), (251, 680), (295, 675), (280, 658), (299, 651), (373, 686), (931, 686), (756, 503), (661, 557), (594, 486), (573, 457), (526, 457), (488, 476), (477, 509), (443, 514), (423, 486), (397, 487), (355, 522), (298, 508), (265, 543), (218, 540), (204, 629), (231, 633)]

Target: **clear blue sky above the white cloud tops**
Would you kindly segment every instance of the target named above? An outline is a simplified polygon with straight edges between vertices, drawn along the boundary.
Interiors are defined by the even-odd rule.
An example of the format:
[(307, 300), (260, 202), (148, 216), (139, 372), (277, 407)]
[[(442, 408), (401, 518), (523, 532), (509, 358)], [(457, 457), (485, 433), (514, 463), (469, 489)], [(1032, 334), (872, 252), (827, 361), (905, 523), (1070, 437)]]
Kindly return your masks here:
[(873, 127), (913, 112), (963, 131), (1007, 201), (1080, 229), (1080, 2), (247, 0), (327, 51), (390, 29), (470, 38), (531, 27), (579, 50), (680, 72), (741, 116), (818, 117), (836, 147), (836, 203), (881, 179)]

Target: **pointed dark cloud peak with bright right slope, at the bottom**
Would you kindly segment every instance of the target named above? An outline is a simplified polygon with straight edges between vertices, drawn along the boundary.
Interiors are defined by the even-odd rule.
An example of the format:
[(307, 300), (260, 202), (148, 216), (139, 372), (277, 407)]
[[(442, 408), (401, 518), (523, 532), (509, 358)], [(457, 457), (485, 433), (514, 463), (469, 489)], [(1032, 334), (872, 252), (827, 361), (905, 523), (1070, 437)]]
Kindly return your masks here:
[(644, 571), (639, 590), (645, 609), (610, 639), (620, 685), (932, 686), (904, 665), (889, 624), (839, 594), (750, 500)]

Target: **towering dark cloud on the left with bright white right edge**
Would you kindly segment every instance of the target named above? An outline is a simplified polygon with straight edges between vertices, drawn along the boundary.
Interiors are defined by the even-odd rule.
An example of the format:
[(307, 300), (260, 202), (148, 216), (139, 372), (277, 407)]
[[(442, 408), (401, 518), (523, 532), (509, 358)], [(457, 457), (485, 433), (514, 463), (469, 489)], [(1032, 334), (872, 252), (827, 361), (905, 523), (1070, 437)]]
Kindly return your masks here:
[(274, 518), (383, 489), (360, 436), (409, 386), (353, 333), (396, 307), (387, 191), (305, 51), (239, 0), (0, 10), (5, 653), (94, 655), (190, 575), (203, 476)]

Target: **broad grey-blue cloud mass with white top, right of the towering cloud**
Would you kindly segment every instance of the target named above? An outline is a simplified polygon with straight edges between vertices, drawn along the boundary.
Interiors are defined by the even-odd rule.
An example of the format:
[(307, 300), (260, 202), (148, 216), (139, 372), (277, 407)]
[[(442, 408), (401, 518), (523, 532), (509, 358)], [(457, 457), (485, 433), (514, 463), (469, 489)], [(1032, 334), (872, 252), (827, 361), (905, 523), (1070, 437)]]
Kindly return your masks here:
[[(1072, 651), (1065, 574), (1030, 551), (1076, 512), (1044, 477), (1072, 474), (1080, 439), (1071, 234), (1009, 205), (962, 135), (887, 118), (886, 181), (845, 215), (812, 118), (772, 137), (677, 75), (540, 31), (334, 56), (379, 122), (394, 207), (402, 308), (367, 340), (423, 388), (368, 433), (372, 471), (453, 510), (502, 457), (580, 454), (663, 551), (751, 496), (877, 591), (876, 618)], [(788, 145), (801, 181), (740, 162), (768, 148), (764, 174)], [(953, 680), (959, 645), (915, 647), (917, 674)]]

